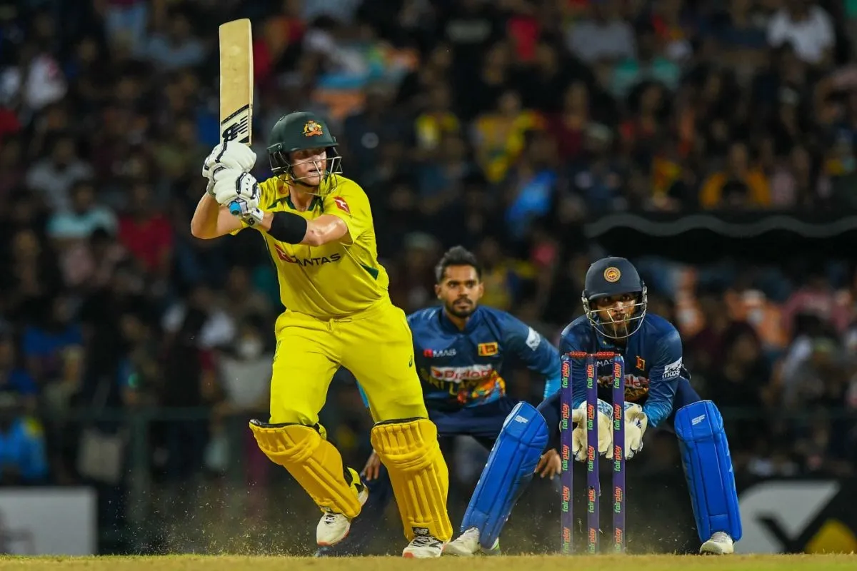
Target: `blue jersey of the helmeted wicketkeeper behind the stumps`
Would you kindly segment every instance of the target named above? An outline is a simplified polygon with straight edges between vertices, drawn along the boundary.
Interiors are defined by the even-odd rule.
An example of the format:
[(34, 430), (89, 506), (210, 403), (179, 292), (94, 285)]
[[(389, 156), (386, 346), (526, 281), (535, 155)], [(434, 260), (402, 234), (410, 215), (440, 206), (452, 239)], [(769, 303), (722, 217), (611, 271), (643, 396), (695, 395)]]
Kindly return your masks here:
[[(674, 325), (654, 313), (626, 340), (625, 347), (596, 333), (585, 315), (562, 331), (562, 354), (571, 351), (597, 353), (614, 351), (625, 358), (625, 400), (636, 402), (649, 417), (649, 426), (660, 425), (673, 412), (673, 397), (680, 378), (690, 379), (681, 363), (681, 337)], [(613, 384), (610, 360), (598, 361), (598, 398), (611, 402)], [(586, 400), (585, 362), (572, 361), (572, 402), (578, 407)]]

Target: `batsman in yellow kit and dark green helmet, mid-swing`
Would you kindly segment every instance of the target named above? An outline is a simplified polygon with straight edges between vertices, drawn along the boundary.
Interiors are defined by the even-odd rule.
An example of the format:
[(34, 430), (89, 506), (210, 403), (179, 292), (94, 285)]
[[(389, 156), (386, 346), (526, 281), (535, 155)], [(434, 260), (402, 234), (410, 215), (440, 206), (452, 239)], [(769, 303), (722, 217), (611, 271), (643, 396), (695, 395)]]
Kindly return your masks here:
[[(255, 153), (236, 141), (203, 165), (207, 192), (191, 231), (212, 239), (258, 230), (277, 268), (286, 307), (275, 324), (271, 416), (251, 420), (259, 448), (319, 506), (319, 545), (348, 535), (369, 491), (327, 441), (319, 411), (344, 366), (365, 390), (373, 449), (390, 474), (405, 557), (437, 557), (452, 537), (449, 474), (428, 419), (405, 312), (390, 300), (378, 263), (369, 199), (342, 175), (337, 141), (320, 117), (283, 116), (267, 147), (273, 177), (257, 183)], [(230, 210), (232, 209), (232, 210)]]

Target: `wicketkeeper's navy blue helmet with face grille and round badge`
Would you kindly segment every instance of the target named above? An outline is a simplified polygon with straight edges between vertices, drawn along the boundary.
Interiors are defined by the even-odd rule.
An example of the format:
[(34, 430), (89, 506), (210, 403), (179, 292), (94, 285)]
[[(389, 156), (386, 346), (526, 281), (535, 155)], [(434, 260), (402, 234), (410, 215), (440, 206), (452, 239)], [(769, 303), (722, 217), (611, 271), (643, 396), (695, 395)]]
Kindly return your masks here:
[[(606, 318), (610, 319), (609, 314), (593, 310), (590, 307), (590, 302), (622, 294), (635, 294), (637, 299), (631, 306), (632, 312), (629, 317), (626, 317), (622, 322), (612, 322), (613, 324), (626, 324), (626, 333), (619, 335), (617, 332), (610, 332), (604, 327), (605, 318), (602, 316), (606, 315)], [(624, 258), (602, 258), (590, 265), (590, 269), (586, 271), (582, 297), (586, 318), (589, 319), (590, 324), (598, 333), (609, 339), (625, 339), (636, 333), (643, 325), (646, 307), (649, 305), (645, 283), (640, 278), (637, 268)], [(618, 330), (614, 328), (614, 331)]]

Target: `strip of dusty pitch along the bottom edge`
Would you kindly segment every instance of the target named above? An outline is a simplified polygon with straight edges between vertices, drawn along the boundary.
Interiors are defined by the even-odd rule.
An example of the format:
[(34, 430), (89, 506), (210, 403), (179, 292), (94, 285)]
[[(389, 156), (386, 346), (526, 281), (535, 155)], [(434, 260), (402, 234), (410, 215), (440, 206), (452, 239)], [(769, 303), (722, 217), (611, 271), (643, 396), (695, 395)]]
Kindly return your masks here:
[(417, 568), (421, 571), (522, 571), (562, 569), (583, 565), (586, 571), (615, 571), (625, 566), (634, 571), (842, 571), (857, 569), (855, 555), (783, 556), (503, 556), (442, 557), (414, 561), (401, 557), (242, 557), (242, 556), (155, 556), (155, 557), (0, 557), (0, 569), (81, 569), (86, 571), (392, 571)]

